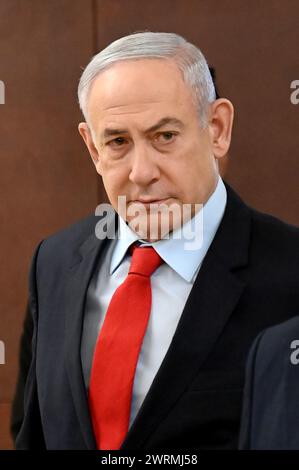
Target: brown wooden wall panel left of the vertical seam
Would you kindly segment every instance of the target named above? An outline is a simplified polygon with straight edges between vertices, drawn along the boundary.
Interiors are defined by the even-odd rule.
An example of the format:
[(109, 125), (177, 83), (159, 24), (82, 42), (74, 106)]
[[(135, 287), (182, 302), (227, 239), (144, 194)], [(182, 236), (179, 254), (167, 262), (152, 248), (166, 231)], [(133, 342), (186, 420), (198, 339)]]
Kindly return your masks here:
[[(83, 7), (84, 6), (84, 7)], [(77, 131), (76, 89), (93, 53), (89, 0), (0, 2), (0, 448), (17, 374), (29, 262), (37, 243), (91, 213), (98, 178)]]

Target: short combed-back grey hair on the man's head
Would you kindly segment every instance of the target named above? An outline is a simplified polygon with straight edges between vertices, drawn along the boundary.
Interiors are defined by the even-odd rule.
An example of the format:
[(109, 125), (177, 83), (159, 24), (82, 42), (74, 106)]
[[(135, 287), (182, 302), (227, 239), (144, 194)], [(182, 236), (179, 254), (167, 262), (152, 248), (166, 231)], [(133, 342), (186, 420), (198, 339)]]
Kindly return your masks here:
[(202, 52), (182, 36), (174, 33), (138, 32), (112, 42), (96, 54), (83, 71), (78, 100), (87, 120), (87, 100), (91, 85), (99, 73), (122, 60), (144, 58), (172, 59), (190, 86), (202, 126), (207, 124), (208, 104), (216, 99), (211, 73)]

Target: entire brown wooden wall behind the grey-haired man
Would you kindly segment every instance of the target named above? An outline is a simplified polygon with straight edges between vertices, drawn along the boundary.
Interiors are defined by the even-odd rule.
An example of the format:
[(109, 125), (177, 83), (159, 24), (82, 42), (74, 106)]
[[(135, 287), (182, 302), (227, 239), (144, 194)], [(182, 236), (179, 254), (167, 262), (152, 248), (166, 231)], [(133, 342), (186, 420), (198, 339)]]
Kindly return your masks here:
[(226, 180), (249, 204), (299, 225), (296, 0), (1, 0), (0, 449), (9, 414), (37, 243), (105, 199), (77, 132), (76, 89), (92, 55), (134, 31), (173, 31), (216, 68), (235, 105)]

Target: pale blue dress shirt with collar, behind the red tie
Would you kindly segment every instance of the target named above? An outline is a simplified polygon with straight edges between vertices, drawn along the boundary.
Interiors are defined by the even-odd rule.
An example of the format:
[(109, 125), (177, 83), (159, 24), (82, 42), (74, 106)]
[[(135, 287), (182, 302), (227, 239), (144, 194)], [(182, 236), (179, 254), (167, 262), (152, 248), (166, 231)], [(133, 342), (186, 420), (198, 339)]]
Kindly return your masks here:
[[(110, 299), (129, 272), (129, 246), (139, 240), (153, 246), (165, 261), (151, 276), (151, 313), (137, 362), (129, 426), (170, 346), (194, 280), (223, 217), (226, 200), (226, 189), (219, 177), (215, 191), (203, 208), (183, 227), (172, 232), (170, 238), (153, 243), (141, 240), (119, 216), (119, 236), (108, 244), (93, 274), (87, 291), (81, 341), (81, 360), (87, 389), (96, 340)], [(196, 249), (186, 250), (184, 234), (190, 233), (188, 229), (196, 226), (194, 224), (198, 218), (202, 221), (202, 244)]]

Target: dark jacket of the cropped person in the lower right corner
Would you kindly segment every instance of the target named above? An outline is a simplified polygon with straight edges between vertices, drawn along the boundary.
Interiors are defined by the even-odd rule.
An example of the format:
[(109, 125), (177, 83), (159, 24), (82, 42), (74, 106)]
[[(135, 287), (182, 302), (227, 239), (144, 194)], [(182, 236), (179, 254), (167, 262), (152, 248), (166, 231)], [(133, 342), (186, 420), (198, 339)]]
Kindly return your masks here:
[[(296, 283), (298, 278), (293, 295), (298, 295)], [(299, 450), (299, 346), (291, 347), (294, 340), (299, 340), (299, 317), (260, 333), (250, 350), (240, 449)]]

